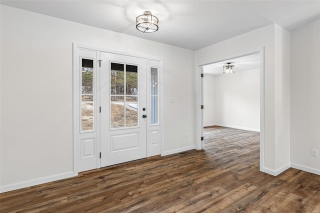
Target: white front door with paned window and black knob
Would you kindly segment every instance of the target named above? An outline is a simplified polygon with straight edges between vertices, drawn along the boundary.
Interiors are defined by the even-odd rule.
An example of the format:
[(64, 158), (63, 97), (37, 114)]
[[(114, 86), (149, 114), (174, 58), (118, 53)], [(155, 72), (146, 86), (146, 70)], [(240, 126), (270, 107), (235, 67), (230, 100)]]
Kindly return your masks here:
[(146, 59), (100, 52), (100, 167), (147, 156)]

